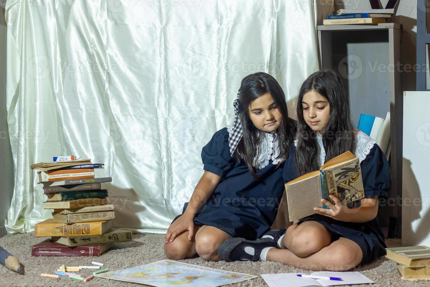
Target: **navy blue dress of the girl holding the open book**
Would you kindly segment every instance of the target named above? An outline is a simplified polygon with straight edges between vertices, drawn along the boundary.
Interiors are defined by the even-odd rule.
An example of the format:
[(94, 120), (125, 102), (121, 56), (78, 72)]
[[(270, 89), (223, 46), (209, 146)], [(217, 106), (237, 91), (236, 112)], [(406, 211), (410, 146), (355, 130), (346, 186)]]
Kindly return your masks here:
[[(291, 145), (289, 158), (286, 160), (283, 173), (284, 181), (289, 182), (295, 178), (296, 167), (294, 160), (295, 146)], [(375, 144), (367, 157), (360, 163), (364, 197), (378, 196), (387, 198), (387, 192), (391, 188), (390, 165), (379, 146)], [(298, 224), (304, 221), (316, 221), (333, 232), (332, 242), (340, 237), (348, 238), (359, 245), (363, 253), (360, 264), (374, 261), (380, 256), (386, 255), (384, 234), (379, 227), (378, 216), (364, 223), (343, 222), (320, 214), (300, 219)]]

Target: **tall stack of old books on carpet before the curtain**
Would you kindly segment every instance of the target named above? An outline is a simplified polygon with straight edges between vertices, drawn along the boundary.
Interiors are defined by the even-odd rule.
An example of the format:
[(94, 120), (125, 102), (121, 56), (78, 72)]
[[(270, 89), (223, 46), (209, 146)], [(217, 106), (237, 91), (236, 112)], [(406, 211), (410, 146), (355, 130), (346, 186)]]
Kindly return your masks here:
[(36, 224), (36, 237), (51, 238), (33, 245), (32, 256), (99, 256), (114, 242), (132, 241), (131, 231), (111, 228), (114, 206), (107, 204), (108, 192), (101, 183), (112, 179), (96, 178), (94, 172), (103, 165), (91, 160), (31, 165), (40, 170), (39, 183), (47, 196), (44, 208), (54, 210), (52, 219)]

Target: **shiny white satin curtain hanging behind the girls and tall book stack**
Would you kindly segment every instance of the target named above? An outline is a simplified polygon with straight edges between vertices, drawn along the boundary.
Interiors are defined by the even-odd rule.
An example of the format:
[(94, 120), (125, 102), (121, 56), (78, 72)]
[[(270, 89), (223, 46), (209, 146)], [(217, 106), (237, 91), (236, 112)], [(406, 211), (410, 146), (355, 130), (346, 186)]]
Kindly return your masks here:
[[(321, 3), (319, 3), (321, 6)], [(114, 226), (164, 233), (233, 119), (240, 80), (265, 71), (293, 102), (318, 70), (313, 0), (8, 0), (9, 233), (51, 217), (31, 163), (76, 155), (111, 176)]]

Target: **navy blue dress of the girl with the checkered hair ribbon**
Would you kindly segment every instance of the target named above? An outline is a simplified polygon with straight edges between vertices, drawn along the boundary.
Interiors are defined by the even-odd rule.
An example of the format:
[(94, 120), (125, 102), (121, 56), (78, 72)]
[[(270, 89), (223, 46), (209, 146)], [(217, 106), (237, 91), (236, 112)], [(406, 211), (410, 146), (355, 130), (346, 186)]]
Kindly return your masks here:
[[(216, 132), (203, 147), (202, 161), (203, 169), (221, 176), (221, 181), (194, 223), (219, 228), (233, 237), (261, 238), (276, 217), (284, 189), (284, 163), (277, 167), (270, 160), (268, 166), (256, 170), (260, 176), (256, 181), (243, 160), (237, 162), (230, 155), (227, 128)], [(182, 214), (187, 206), (188, 202)]]

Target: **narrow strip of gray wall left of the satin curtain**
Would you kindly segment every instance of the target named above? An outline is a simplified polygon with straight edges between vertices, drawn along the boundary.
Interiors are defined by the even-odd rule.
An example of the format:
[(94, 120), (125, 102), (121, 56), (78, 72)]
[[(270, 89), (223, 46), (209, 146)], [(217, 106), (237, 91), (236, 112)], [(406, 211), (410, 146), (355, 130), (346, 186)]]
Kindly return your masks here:
[(0, 237), (6, 235), (4, 220), (13, 194), (13, 159), (10, 148), (6, 114), (6, 23), (4, 6), (0, 0)]

